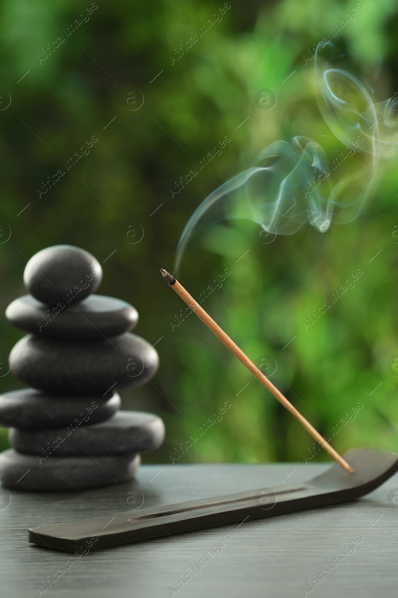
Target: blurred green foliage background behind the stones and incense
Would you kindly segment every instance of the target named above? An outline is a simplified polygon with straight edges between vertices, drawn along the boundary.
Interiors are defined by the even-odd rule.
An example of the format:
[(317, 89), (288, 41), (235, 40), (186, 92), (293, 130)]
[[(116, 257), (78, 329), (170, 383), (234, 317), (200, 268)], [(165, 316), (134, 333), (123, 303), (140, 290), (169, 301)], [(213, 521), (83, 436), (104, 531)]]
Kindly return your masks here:
[[(137, 334), (161, 338), (152, 384), (122, 392), (125, 408), (154, 411), (166, 424), (163, 447), (144, 462), (328, 459), (195, 315), (178, 319), (184, 304), (159, 269), (174, 269), (178, 239), (199, 203), (266, 145), (300, 133), (322, 137), (330, 155), (343, 149), (317, 114), (310, 57), (359, 4), (231, 0), (200, 37), (222, 0), (98, 0), (87, 17), (80, 15), (89, 0), (0, 4), (1, 312), (24, 293), (24, 266), (39, 249), (70, 243), (98, 258), (100, 292), (134, 304)], [(398, 91), (397, 8), (364, 2), (333, 38), (345, 68), (380, 100)], [(262, 88), (277, 96), (270, 111), (254, 103)], [(66, 170), (92, 136), (90, 153)], [(173, 196), (175, 183), (224, 136), (231, 141), (223, 153)], [(65, 175), (40, 195), (61, 168)], [(214, 225), (190, 245), (180, 271), (198, 296), (230, 270), (203, 307), (252, 361), (275, 362), (272, 382), (341, 452), (398, 450), (398, 378), (388, 368), (398, 354), (397, 187), (390, 161), (365, 212), (323, 234), (304, 225), (264, 244), (251, 222)], [(304, 331), (307, 314), (358, 269), (354, 288)], [(22, 333), (4, 316), (0, 326), (4, 392), (19, 388), (7, 355)], [(213, 416), (226, 402), (222, 419)], [(187, 449), (192, 435), (198, 440)], [(8, 446), (5, 429), (1, 443)]]

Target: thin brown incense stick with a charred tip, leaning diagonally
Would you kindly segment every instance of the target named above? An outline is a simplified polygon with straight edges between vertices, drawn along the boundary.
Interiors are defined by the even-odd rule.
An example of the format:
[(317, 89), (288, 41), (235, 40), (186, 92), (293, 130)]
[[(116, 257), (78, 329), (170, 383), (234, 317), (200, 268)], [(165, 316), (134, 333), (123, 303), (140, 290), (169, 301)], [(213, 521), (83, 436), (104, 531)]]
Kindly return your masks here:
[(311, 436), (315, 438), (315, 440), (317, 441), (317, 443), (319, 443), (322, 449), (328, 451), (328, 453), (338, 463), (340, 463), (340, 465), (345, 469), (345, 471), (348, 471), (349, 474), (353, 474), (354, 470), (350, 467), (350, 465), (348, 465), (347, 461), (345, 461), (343, 457), (341, 457), (340, 454), (338, 454), (337, 451), (335, 451), (330, 446), (330, 444), (325, 440), (325, 438), (322, 438), (319, 432), (317, 432), (316, 429), (313, 428), (313, 426), (311, 426), (310, 422), (307, 422), (306, 418), (301, 415), (300, 411), (297, 411), (297, 409), (291, 404), (291, 402), (289, 402), (288, 399), (286, 399), (286, 397), (282, 395), (282, 392), (280, 392), (276, 388), (276, 386), (274, 386), (273, 383), (270, 382), (267, 376), (264, 376), (263, 372), (260, 371), (252, 361), (250, 361), (248, 356), (246, 356), (245, 353), (243, 353), (243, 351), (239, 349), (239, 347), (223, 331), (223, 329), (221, 329), (218, 326), (218, 324), (216, 324), (214, 320), (210, 318), (210, 316), (205, 312), (205, 310), (202, 307), (200, 307), (199, 303), (195, 301), (193, 297), (191, 297), (189, 292), (187, 292), (183, 286), (180, 285), (178, 280), (175, 280), (174, 276), (171, 276), (171, 274), (169, 274), (166, 270), (162, 269), (161, 273), (163, 278), (165, 278), (168, 281), (168, 283), (172, 286), (174, 291), (177, 292), (177, 294), (180, 295), (181, 299), (183, 299), (185, 303), (196, 313), (196, 315), (199, 316), (202, 322), (204, 322), (206, 326), (210, 328), (211, 331), (214, 332), (214, 334), (218, 338), (220, 338), (221, 342), (224, 343), (227, 349), (229, 349), (230, 352), (232, 352), (239, 359), (239, 361), (241, 361), (242, 364), (245, 365), (246, 368), (248, 368), (248, 370), (250, 370), (252, 374), (254, 374), (257, 380), (259, 380), (261, 384), (264, 385), (266, 389), (274, 395), (274, 397), (283, 405), (283, 407), (285, 407), (288, 411), (290, 411), (292, 415), (294, 415), (294, 417), (301, 423), (301, 425), (304, 426), (304, 428), (306, 428), (307, 432), (309, 432)]

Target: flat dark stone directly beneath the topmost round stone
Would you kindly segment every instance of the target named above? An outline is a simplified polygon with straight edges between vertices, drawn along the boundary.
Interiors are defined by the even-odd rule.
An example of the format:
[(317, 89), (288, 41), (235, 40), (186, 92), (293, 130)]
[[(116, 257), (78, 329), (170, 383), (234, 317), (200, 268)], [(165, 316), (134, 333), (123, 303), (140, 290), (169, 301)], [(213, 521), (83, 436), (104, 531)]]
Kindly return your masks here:
[(48, 307), (32, 295), (18, 297), (5, 310), (8, 322), (21, 330), (51, 338), (101, 340), (134, 328), (138, 312), (126, 301), (90, 295), (84, 301), (65, 307)]

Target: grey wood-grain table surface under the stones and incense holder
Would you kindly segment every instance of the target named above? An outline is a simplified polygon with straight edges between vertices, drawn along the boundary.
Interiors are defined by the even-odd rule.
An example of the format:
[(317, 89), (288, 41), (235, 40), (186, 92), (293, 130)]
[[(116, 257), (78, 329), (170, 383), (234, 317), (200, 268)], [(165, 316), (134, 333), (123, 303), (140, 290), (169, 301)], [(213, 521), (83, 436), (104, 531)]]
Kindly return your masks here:
[[(143, 507), (152, 507), (276, 486), (287, 477), (295, 483), (326, 468), (311, 463), (146, 465), (135, 481), (103, 489), (10, 490), (10, 505), (0, 508), (0, 597), (33, 598), (42, 591), (46, 598), (293, 598), (304, 596), (301, 588), (321, 574), (325, 578), (307, 589), (307, 596), (395, 598), (398, 508), (388, 502), (393, 505), (391, 490), (398, 492), (398, 474), (356, 502), (90, 552), (73, 563), (68, 563), (70, 554), (27, 542), (31, 526), (108, 514), (111, 520), (118, 512), (137, 510), (143, 500)], [(4, 496), (0, 507), (8, 502)], [(344, 551), (358, 536), (362, 541)], [(223, 539), (224, 547), (213, 551), (218, 554), (196, 566)], [(342, 551), (346, 556), (336, 559)], [(196, 575), (172, 594), (169, 588), (192, 568), (198, 569)], [(330, 572), (322, 576), (325, 568)], [(44, 592), (43, 582), (54, 574), (59, 579)]]

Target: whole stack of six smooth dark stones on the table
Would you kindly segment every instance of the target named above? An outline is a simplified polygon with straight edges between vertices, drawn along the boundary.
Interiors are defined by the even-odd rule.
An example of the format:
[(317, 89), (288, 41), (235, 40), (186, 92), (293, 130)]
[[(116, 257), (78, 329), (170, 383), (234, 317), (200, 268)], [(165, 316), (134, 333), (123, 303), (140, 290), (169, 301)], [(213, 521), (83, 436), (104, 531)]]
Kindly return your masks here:
[(29, 332), (10, 353), (14, 376), (32, 388), (0, 395), (0, 425), (13, 449), (0, 454), (0, 480), (21, 490), (77, 490), (131, 479), (142, 451), (158, 448), (165, 428), (150, 413), (120, 411), (118, 389), (139, 386), (158, 369), (158, 353), (128, 332), (138, 313), (92, 295), (101, 266), (83, 249), (57, 245), (27, 263), (29, 295), (6, 317)]

